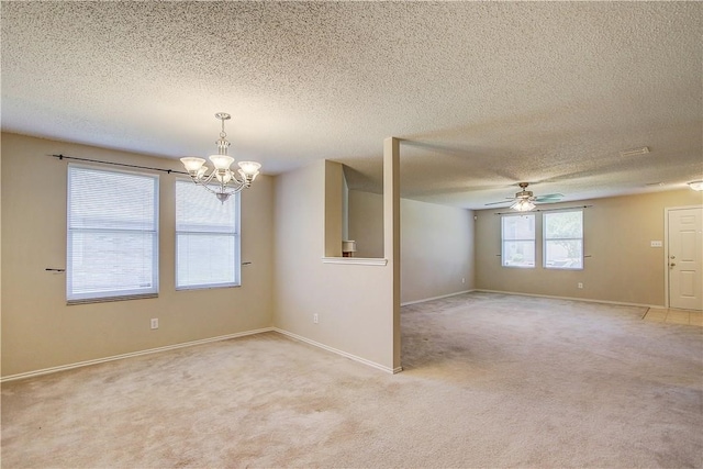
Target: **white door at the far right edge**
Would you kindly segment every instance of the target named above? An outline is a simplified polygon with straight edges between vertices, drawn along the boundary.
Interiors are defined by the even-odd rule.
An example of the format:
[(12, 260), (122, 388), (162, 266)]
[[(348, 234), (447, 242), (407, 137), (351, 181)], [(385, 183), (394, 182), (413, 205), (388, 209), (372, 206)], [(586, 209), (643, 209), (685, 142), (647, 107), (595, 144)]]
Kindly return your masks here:
[(669, 308), (703, 310), (703, 208), (672, 209), (669, 232)]

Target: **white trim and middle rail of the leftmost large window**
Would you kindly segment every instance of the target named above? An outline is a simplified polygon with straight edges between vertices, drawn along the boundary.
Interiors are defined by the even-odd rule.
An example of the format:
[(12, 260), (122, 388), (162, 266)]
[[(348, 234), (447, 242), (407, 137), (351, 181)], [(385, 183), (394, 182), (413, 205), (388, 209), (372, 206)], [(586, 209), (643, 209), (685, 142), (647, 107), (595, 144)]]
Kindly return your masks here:
[[(118, 230), (118, 228), (74, 228), (71, 230), (71, 170), (72, 169), (83, 169), (89, 171), (100, 171), (100, 172), (110, 172), (110, 174), (122, 174), (122, 175), (133, 175), (143, 178), (152, 179), (153, 188), (154, 188), (154, 230)], [(129, 170), (120, 170), (120, 169), (104, 169), (98, 168), (91, 165), (81, 165), (81, 164), (72, 164), (69, 163), (66, 170), (66, 304), (87, 304), (87, 303), (103, 303), (103, 302), (112, 302), (112, 301), (125, 301), (125, 300), (141, 300), (141, 299), (149, 299), (149, 298), (158, 298), (159, 293), (159, 186), (160, 179), (158, 175), (153, 175), (148, 172), (137, 172), (137, 171), (129, 171)], [(105, 290), (104, 294), (97, 295), (96, 293), (79, 293), (71, 294), (71, 289), (74, 286), (72, 282), (72, 272), (74, 265), (71, 261), (72, 257), (72, 248), (71, 241), (74, 239), (74, 234), (76, 233), (89, 233), (89, 232), (104, 232), (104, 233), (150, 233), (152, 234), (152, 288), (145, 290), (144, 292), (137, 293), (132, 290), (130, 293), (125, 294), (115, 294), (119, 290)]]

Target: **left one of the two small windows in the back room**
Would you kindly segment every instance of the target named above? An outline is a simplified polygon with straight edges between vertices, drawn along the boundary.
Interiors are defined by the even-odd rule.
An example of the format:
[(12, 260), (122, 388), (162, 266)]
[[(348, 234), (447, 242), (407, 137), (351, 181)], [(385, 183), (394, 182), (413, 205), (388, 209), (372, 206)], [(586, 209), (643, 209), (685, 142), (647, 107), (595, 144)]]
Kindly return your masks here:
[(535, 215), (502, 215), (504, 267), (535, 267)]

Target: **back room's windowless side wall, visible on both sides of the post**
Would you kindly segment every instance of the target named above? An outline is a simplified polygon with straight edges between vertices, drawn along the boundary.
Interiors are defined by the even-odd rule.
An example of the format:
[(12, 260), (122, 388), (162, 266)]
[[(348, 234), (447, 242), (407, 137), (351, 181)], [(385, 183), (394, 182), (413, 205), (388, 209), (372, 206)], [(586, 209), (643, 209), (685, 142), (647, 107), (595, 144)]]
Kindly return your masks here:
[[(401, 302), (473, 289), (473, 212), (400, 201)], [(349, 237), (358, 257), (383, 255), (383, 197), (349, 191)]]

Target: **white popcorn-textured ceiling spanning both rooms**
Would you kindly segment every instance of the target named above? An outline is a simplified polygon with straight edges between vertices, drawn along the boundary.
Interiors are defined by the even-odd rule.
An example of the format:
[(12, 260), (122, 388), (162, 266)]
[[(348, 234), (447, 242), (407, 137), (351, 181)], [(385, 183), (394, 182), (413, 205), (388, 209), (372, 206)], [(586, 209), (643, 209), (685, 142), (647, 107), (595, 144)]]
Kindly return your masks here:
[[(473, 209), (703, 179), (701, 2), (2, 2), (2, 130)], [(648, 146), (644, 156), (620, 150)], [(663, 186), (657, 185), (662, 182)]]

